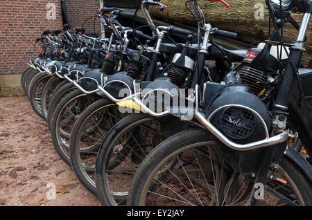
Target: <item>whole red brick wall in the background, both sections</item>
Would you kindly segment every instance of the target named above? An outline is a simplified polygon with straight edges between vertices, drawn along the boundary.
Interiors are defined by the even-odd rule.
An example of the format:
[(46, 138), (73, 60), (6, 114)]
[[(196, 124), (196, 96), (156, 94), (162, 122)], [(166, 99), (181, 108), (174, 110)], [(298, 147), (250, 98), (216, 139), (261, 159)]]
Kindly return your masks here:
[[(96, 14), (99, 0), (66, 0), (72, 27)], [(50, 3), (50, 5), (48, 5)], [(55, 4), (55, 17), (51, 16)], [(85, 24), (93, 32), (94, 19)], [(101, 30), (98, 19), (96, 31)], [(60, 0), (0, 0), (0, 75), (21, 74), (26, 62), (38, 55), (35, 39), (43, 30), (62, 28)]]

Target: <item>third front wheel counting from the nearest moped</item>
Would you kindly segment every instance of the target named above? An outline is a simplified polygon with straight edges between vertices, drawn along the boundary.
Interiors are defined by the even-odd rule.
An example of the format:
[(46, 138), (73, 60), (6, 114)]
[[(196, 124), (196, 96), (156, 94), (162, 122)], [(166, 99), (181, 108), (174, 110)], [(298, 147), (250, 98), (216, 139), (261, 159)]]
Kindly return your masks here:
[[(112, 113), (110, 118), (107, 118), (107, 113)], [(107, 98), (101, 98), (87, 107), (85, 111), (83, 111), (73, 127), (69, 145), (71, 167), (76, 173), (79, 181), (83, 183), (89, 192), (92, 192), (95, 195), (95, 181), (94, 178), (89, 175), (94, 175), (96, 155), (98, 154), (98, 149), (105, 138), (105, 134), (110, 131), (110, 129), (114, 126), (115, 121), (120, 118), (115, 115), (116, 113), (119, 113), (118, 109), (116, 108), (116, 104)], [(89, 122), (94, 120), (95, 118), (93, 117), (96, 116), (99, 116), (99, 120), (101, 120), (98, 124), (95, 122), (97, 124), (96, 132), (86, 132), (86, 129), (89, 129)], [(104, 123), (105, 125), (103, 125)], [(86, 135), (85, 133), (89, 134)], [(87, 141), (87, 146), (83, 143), (84, 139)], [(96, 140), (97, 143), (95, 145), (88, 145), (92, 139)], [(85, 158), (81, 157), (83, 155)]]

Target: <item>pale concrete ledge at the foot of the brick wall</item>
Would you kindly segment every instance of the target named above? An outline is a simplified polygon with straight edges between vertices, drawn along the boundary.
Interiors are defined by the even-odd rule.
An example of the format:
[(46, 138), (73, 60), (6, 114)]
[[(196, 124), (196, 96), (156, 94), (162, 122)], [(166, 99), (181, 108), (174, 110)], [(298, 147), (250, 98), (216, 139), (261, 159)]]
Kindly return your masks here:
[(21, 87), (21, 74), (0, 75), (0, 95), (25, 95)]

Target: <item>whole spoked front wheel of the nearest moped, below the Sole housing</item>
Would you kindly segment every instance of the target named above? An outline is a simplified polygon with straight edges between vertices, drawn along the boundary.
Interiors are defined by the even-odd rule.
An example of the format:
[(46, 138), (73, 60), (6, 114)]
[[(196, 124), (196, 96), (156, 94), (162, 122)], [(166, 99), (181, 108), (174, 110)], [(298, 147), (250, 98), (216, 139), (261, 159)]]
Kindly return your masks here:
[[(254, 183), (220, 158), (203, 129), (166, 139), (141, 163), (127, 205), (250, 205)], [(269, 170), (263, 205), (311, 205), (311, 183), (287, 158)], [(256, 203), (256, 205), (257, 205)]]

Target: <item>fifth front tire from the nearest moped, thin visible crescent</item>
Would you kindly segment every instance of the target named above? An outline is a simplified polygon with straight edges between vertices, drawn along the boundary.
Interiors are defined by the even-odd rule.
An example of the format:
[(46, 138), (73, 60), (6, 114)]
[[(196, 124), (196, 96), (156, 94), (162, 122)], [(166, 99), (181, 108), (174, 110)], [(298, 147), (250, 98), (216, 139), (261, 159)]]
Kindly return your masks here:
[(50, 124), (51, 124), (51, 118), (53, 116), (53, 112), (55, 110), (55, 108), (58, 106), (58, 104), (60, 103), (60, 101), (62, 100), (62, 98), (64, 98), (66, 95), (68, 95), (71, 91), (74, 91), (76, 88), (76, 86), (74, 86), (71, 82), (67, 82), (66, 80), (64, 80), (63, 82), (61, 82), (56, 88), (55, 91), (53, 92), (52, 99), (49, 102), (49, 108), (48, 108), (48, 126), (50, 129)]

